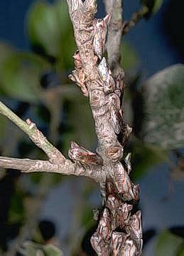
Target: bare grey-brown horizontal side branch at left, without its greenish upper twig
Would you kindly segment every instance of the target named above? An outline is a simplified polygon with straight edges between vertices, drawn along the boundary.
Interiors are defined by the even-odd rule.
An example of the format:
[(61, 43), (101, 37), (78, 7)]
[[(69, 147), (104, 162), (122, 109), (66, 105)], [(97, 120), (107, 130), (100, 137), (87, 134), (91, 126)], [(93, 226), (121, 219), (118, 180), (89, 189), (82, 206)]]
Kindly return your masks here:
[(20, 158), (6, 158), (0, 156), (0, 168), (11, 168), (20, 170), (22, 173), (60, 173), (63, 175), (77, 175), (92, 178), (97, 183), (105, 181), (105, 173), (102, 167), (92, 166), (85, 168), (80, 163), (72, 163), (65, 160), (63, 164), (53, 164), (46, 160), (31, 160)]

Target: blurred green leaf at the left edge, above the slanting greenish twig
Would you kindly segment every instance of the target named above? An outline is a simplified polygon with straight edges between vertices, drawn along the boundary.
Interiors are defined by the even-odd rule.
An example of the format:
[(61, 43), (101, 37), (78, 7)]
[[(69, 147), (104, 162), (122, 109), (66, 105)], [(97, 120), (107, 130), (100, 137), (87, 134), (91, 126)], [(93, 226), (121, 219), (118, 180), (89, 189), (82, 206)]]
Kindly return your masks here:
[(13, 51), (0, 66), (0, 92), (19, 101), (40, 100), (40, 76), (50, 65), (32, 53)]

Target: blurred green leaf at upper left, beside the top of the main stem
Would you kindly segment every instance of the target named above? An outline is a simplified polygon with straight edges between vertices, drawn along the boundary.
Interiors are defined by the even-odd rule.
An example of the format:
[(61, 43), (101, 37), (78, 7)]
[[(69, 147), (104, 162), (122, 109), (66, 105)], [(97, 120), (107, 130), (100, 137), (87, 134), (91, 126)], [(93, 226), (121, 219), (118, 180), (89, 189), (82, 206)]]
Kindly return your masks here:
[(60, 68), (72, 66), (72, 58), (68, 57), (72, 56), (75, 41), (65, 1), (37, 1), (28, 11), (27, 28), (37, 53), (54, 57)]

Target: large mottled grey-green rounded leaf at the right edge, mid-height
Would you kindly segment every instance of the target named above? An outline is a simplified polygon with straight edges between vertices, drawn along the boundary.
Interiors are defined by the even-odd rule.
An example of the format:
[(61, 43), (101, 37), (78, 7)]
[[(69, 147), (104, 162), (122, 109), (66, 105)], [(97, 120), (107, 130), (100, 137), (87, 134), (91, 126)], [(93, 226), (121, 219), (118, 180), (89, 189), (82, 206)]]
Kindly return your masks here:
[(143, 86), (144, 142), (166, 149), (184, 146), (184, 65), (163, 69)]

